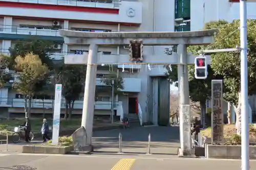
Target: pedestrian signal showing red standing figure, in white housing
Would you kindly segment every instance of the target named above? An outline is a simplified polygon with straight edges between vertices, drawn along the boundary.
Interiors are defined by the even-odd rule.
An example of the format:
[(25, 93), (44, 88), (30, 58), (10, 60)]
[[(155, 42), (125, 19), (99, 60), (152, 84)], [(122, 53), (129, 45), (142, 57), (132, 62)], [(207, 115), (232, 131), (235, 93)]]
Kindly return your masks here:
[(204, 56), (198, 56), (195, 58), (195, 78), (207, 78), (207, 63), (206, 58)]

